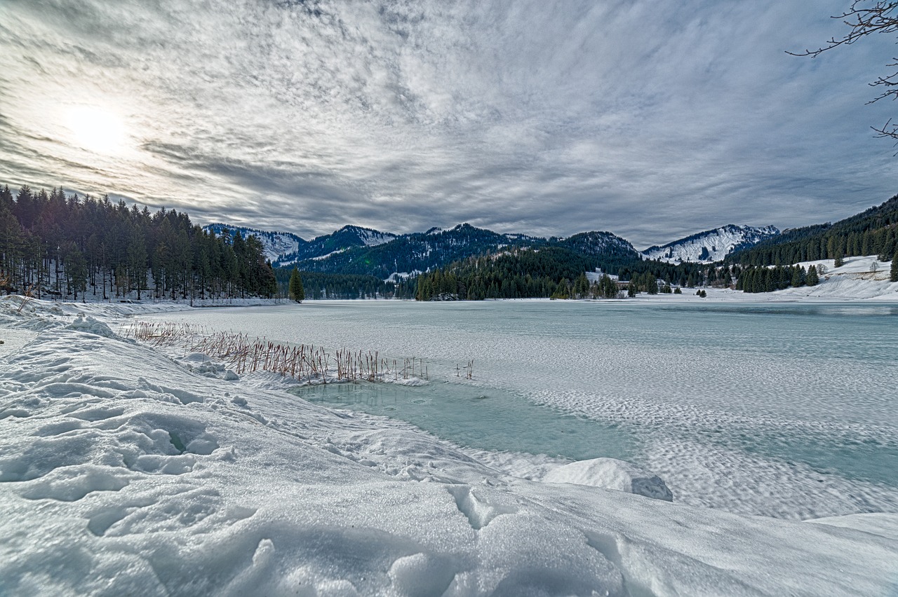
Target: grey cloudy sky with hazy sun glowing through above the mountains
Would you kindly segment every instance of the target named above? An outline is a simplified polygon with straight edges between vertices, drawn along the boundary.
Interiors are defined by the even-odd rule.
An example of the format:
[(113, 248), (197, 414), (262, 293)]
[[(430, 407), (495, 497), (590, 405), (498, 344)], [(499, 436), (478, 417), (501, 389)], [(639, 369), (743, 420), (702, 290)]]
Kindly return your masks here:
[(785, 53), (849, 4), (3, 0), (0, 183), (304, 238), (834, 221), (898, 192), (895, 39)]

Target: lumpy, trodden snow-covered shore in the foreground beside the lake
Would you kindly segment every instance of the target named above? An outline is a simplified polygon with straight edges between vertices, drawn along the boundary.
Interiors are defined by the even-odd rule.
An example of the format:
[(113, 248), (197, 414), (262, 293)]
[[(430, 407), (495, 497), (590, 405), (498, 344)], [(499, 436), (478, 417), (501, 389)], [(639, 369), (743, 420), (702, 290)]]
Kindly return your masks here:
[(0, 594), (898, 591), (898, 515), (685, 506), (619, 490), (652, 479), (626, 463), (524, 480), (113, 332), (162, 307), (19, 304), (0, 299)]

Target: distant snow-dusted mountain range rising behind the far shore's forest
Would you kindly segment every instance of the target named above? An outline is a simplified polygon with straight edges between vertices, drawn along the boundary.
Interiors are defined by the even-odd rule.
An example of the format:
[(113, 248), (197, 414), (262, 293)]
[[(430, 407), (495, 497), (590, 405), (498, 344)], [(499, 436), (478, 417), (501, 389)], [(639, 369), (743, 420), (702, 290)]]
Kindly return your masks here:
[(581, 255), (601, 256), (610, 262), (660, 259), (667, 263), (712, 263), (735, 250), (752, 247), (779, 234), (773, 226), (753, 228), (733, 224), (706, 230), (638, 251), (629, 241), (611, 232), (581, 232), (567, 238), (540, 238), (525, 234), (500, 234), (471, 224), (451, 229), (391, 234), (359, 226), (344, 226), (335, 232), (305, 240), (290, 232), (272, 232), (210, 224), (207, 230), (220, 235), (224, 229), (242, 236), (255, 235), (275, 267), (295, 266), (306, 272), (369, 274), (396, 281), (409, 274), (444, 267), (473, 255), (499, 253), (515, 248), (562, 247)]

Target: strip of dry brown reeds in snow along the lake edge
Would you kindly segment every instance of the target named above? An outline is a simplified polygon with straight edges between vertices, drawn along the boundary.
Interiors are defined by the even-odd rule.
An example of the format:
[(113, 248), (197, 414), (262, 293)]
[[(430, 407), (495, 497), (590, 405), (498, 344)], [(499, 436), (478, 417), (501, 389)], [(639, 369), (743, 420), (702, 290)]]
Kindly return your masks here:
[[(137, 321), (122, 335), (154, 346), (181, 346), (225, 362), (242, 375), (270, 371), (304, 382), (399, 381), (430, 379), (424, 359), (386, 359), (377, 350), (336, 350), (313, 344), (282, 344), (247, 333), (214, 332), (199, 325)], [(468, 376), (471, 379), (471, 376)]]

